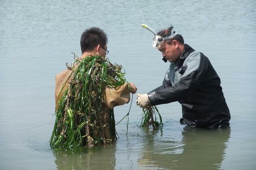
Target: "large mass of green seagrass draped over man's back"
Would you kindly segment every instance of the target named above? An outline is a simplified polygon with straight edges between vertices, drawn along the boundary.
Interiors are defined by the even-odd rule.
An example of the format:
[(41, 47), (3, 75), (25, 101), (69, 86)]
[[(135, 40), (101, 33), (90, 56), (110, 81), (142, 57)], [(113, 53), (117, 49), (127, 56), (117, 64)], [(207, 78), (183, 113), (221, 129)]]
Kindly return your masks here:
[[(122, 67), (99, 55), (75, 59), (69, 83), (55, 111), (55, 124), (50, 139), (52, 148), (93, 146), (116, 139), (113, 109), (104, 106), (104, 89), (118, 89), (126, 82)], [(103, 120), (103, 121), (102, 121)], [(104, 121), (108, 120), (108, 122)], [(109, 123), (111, 139), (105, 139)]]

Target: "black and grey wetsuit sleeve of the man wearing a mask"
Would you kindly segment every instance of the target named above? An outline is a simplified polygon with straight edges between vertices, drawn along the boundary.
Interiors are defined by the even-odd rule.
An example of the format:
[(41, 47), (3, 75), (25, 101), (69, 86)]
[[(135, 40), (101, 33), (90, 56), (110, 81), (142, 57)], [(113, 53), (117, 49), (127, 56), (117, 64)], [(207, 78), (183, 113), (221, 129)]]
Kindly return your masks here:
[(208, 67), (207, 57), (195, 52), (186, 60), (184, 61), (186, 71), (177, 84), (148, 94), (152, 106), (187, 99), (200, 84)]

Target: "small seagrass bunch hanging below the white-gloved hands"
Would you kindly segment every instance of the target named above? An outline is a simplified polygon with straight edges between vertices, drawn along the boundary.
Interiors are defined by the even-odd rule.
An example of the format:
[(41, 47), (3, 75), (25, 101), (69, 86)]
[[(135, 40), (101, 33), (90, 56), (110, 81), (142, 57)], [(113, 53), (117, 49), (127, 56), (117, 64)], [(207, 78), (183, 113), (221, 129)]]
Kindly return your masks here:
[[(142, 109), (142, 118), (141, 118), (141, 125), (140, 127), (153, 127), (153, 130), (156, 130), (159, 125), (163, 124), (162, 123), (162, 117), (157, 109), (156, 106), (147, 106), (145, 109)], [(157, 114), (160, 119), (160, 123), (157, 120)]]

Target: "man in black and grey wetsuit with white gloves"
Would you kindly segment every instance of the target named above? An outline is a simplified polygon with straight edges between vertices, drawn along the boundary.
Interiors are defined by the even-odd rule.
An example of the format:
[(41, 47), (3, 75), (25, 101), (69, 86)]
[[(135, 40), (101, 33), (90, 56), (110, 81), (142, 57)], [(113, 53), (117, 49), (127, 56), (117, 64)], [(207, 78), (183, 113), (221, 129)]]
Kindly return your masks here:
[(172, 29), (171, 26), (158, 32), (155, 42), (163, 60), (170, 62), (163, 85), (148, 94), (138, 94), (137, 105), (145, 108), (178, 101), (182, 104), (181, 123), (210, 128), (228, 126), (230, 112), (218, 74), (203, 53), (184, 44), (182, 36)]

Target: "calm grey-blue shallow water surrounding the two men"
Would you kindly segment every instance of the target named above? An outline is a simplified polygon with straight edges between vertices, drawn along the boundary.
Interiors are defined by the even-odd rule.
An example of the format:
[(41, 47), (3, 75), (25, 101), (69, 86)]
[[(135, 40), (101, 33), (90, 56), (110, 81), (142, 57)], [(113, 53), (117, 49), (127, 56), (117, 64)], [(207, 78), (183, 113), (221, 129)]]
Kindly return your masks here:
[[(165, 4), (166, 5), (165, 5)], [(256, 168), (256, 2), (7, 1), (0, 5), (0, 169), (243, 169)], [(180, 125), (178, 102), (158, 106), (164, 125), (137, 126), (141, 109), (117, 125), (115, 144), (52, 151), (55, 74), (80, 55), (80, 35), (91, 26), (108, 34), (111, 62), (144, 94), (161, 85), (169, 64), (152, 48), (152, 34), (170, 24), (202, 51), (221, 78), (230, 127)], [(119, 121), (129, 104), (115, 108)]]

